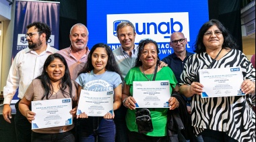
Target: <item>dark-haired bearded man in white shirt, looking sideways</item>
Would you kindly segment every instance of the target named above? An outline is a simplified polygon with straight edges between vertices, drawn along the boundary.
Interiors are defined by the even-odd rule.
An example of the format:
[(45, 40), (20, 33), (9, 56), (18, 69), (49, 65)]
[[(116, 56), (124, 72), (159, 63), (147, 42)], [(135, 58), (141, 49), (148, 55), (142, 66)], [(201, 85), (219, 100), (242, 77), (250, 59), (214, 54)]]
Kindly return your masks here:
[[(25, 36), (28, 41), (28, 48), (21, 50), (15, 56), (9, 70), (6, 86), (3, 87), (3, 118), (8, 123), (11, 123), (12, 118), (11, 99), (17, 89), (19, 88), (18, 98), (21, 100), (32, 80), (42, 73), (42, 66), (46, 58), (58, 51), (47, 44), (47, 40), (51, 36), (49, 25), (36, 21), (27, 25), (27, 29), (28, 32)], [(15, 104), (16, 137), (17, 141), (28, 142), (31, 141), (31, 123), (18, 109), (20, 100)]]

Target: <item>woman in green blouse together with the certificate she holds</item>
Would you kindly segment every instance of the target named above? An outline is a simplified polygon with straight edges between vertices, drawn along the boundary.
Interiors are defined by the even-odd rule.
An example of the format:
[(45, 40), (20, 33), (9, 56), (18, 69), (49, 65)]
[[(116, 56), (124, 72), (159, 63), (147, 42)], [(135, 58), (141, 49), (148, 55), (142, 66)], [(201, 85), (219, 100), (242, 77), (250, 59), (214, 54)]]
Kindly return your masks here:
[[(177, 80), (170, 68), (160, 68), (160, 66), (158, 66), (158, 63), (160, 61), (158, 54), (158, 44), (156, 44), (154, 40), (141, 40), (138, 46), (138, 54), (137, 60), (135, 62), (135, 67), (131, 68), (131, 70), (129, 70), (127, 76), (125, 77), (122, 99), (124, 106), (128, 108), (126, 114), (126, 124), (129, 129), (129, 141), (166, 141), (167, 111), (168, 109), (172, 110), (179, 107), (179, 101), (177, 100), (177, 98), (170, 96), (173, 88), (176, 87)], [(145, 83), (154, 83), (160, 80), (167, 81), (168, 83), (163, 83), (162, 87), (142, 87), (142, 85)], [(139, 81), (137, 85), (133, 85), (135, 81)], [(158, 94), (158, 92), (156, 92), (155, 90), (156, 88), (158, 88), (158, 90), (161, 90), (162, 88), (164, 88), (164, 84), (167, 85), (168, 92), (164, 93), (164, 96), (162, 96), (162, 93)], [(160, 104), (158, 102), (154, 102), (154, 98), (160, 100), (161, 97), (166, 97), (167, 95), (168, 98), (165, 100), (165, 102), (168, 102), (166, 103), (166, 108), (152, 108), (152, 106), (150, 106), (150, 108), (148, 109), (137, 109), (136, 111), (136, 102), (138, 102), (139, 100), (143, 101), (143, 99), (139, 99), (136, 101), (133, 97), (135, 96), (134, 91), (136, 86), (141, 86), (141, 88), (149, 88), (149, 90), (152, 87), (156, 87), (152, 91), (143, 93), (148, 94), (148, 98), (146, 99), (153, 100), (153, 103), (143, 103), (148, 104), (149, 106), (150, 104)], [(143, 125), (141, 123), (141, 117), (138, 117), (141, 114), (151, 115), (148, 116), (151, 117), (151, 120), (149, 119), (150, 123), (144, 125), (146, 127), (150, 126), (150, 128), (147, 128), (148, 130), (143, 129), (142, 127), (138, 127)], [(148, 117), (144, 117), (143, 119), (147, 119)]]

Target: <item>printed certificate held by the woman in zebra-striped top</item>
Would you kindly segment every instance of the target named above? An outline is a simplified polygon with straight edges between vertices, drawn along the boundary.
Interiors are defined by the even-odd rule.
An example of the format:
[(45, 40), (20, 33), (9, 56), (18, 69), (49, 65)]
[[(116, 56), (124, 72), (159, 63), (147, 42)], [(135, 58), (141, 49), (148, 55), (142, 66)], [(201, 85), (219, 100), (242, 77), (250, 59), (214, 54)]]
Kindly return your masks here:
[(203, 84), (202, 98), (245, 95), (241, 91), (243, 74), (240, 67), (199, 70)]

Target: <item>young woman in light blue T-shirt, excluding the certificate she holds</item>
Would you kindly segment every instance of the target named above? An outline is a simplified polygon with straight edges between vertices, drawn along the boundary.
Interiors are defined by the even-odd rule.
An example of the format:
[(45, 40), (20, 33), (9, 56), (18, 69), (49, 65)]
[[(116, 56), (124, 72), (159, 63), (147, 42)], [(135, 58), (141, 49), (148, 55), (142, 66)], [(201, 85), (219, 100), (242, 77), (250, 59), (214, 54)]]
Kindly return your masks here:
[[(121, 106), (122, 78), (112, 50), (106, 44), (96, 44), (90, 50), (84, 69), (75, 80), (78, 96), (81, 90), (114, 92), (113, 111)], [(115, 115), (88, 117), (84, 112), (77, 115), (80, 120), (79, 141), (115, 141)]]

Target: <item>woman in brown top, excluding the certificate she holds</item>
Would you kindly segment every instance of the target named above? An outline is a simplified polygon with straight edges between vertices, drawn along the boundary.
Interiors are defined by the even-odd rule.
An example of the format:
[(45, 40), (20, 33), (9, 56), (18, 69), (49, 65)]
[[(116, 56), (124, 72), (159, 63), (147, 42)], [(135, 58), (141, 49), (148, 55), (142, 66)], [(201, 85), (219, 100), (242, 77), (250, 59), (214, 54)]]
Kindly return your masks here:
[[(51, 54), (46, 58), (42, 74), (32, 81), (24, 98), (20, 101), (19, 109), (31, 123), (36, 115), (30, 111), (31, 101), (51, 100), (57, 98), (72, 98), (76, 106), (77, 90), (69, 76), (67, 62), (61, 54)], [(76, 108), (69, 112), (75, 116)], [(71, 133), (73, 125), (32, 130), (32, 141), (75, 141)], [(54, 137), (54, 138), (53, 138)]]

